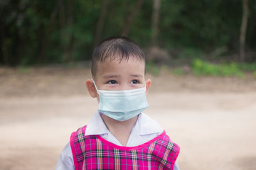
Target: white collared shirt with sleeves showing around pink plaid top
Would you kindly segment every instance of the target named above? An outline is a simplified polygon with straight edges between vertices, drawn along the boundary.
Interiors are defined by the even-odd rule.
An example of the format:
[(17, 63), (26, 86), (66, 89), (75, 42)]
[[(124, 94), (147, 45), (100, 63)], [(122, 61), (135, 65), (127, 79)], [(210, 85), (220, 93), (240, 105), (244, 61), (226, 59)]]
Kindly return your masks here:
[[(127, 147), (142, 145), (145, 142), (154, 139), (154, 137), (157, 137), (163, 131), (164, 130), (161, 128), (159, 123), (149, 118), (148, 115), (141, 113), (139, 114), (137, 123), (135, 123), (134, 127), (132, 128), (129, 140), (127, 142)], [(85, 135), (100, 135), (103, 139), (112, 142), (115, 145), (122, 146), (121, 143), (107, 129), (101, 118), (101, 113), (98, 112), (95, 113), (88, 123), (85, 130)], [(63, 151), (61, 152), (55, 170), (75, 170), (70, 142), (65, 145)], [(177, 162), (174, 164), (174, 170), (179, 170)]]

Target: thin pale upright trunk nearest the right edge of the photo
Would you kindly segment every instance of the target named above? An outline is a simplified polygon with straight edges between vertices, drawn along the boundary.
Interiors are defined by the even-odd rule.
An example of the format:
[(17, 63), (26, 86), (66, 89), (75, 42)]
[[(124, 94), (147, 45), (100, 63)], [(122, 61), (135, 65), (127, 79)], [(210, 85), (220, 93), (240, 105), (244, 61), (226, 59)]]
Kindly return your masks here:
[(240, 61), (245, 61), (245, 38), (248, 19), (248, 2), (242, 0), (242, 24), (240, 29)]

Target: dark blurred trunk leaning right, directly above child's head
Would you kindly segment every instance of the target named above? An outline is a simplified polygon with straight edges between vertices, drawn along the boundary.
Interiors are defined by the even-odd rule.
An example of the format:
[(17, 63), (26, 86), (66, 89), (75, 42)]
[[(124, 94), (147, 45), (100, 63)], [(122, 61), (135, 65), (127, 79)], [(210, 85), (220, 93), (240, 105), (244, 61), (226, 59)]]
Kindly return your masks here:
[(132, 21), (134, 20), (134, 17), (136, 16), (137, 12), (139, 11), (139, 8), (142, 6), (144, 0), (138, 0), (137, 4), (134, 6), (134, 10), (132, 10), (131, 14), (127, 18), (127, 21), (125, 22), (124, 29), (122, 30), (121, 35), (127, 36), (130, 30), (130, 27), (132, 26)]

